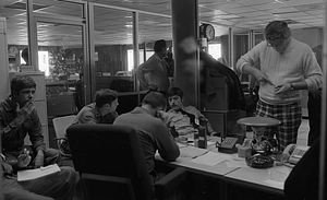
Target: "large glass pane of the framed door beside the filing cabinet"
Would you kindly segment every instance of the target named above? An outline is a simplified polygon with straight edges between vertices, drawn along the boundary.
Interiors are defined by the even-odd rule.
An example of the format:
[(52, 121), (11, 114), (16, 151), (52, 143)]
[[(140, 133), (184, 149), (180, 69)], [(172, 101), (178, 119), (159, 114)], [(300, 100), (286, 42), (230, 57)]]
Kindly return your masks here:
[(84, 106), (82, 26), (38, 22), (37, 33), (48, 116), (75, 114)]

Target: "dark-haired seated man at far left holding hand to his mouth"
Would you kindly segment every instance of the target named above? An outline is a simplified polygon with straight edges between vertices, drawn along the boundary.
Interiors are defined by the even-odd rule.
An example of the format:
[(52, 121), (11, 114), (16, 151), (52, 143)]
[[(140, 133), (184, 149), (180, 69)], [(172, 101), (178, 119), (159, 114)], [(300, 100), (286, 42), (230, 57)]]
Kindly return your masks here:
[[(61, 164), (58, 150), (47, 149), (39, 117), (34, 106), (36, 83), (31, 77), (15, 77), (11, 81), (11, 95), (0, 103), (0, 133), (2, 153), (16, 160), (22, 152), (32, 157), (29, 167)], [(32, 145), (24, 145), (29, 136)]]

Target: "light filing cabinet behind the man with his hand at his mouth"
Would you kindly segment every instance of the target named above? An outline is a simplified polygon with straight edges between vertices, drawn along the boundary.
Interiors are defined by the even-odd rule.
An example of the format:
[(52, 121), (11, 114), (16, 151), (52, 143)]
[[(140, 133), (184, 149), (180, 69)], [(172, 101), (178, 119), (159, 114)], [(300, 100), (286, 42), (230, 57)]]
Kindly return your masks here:
[[(34, 97), (34, 106), (37, 110), (46, 146), (49, 148), (49, 131), (48, 131), (48, 114), (47, 114), (47, 98), (46, 98), (46, 80), (43, 72), (10, 72), (9, 78), (12, 80), (16, 75), (29, 75), (36, 83), (36, 93)], [(31, 144), (28, 137), (25, 138), (25, 143)]]

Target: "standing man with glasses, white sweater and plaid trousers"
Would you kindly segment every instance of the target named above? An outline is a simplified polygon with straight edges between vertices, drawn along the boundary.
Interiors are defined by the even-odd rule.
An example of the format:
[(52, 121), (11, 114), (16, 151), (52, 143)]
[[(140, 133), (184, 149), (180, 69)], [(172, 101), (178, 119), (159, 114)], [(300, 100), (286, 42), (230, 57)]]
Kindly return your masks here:
[(282, 151), (296, 143), (302, 119), (301, 91), (319, 89), (323, 74), (311, 47), (292, 38), (286, 22), (270, 22), (264, 36), (266, 40), (239, 59), (237, 70), (259, 82), (255, 115), (281, 121), (280, 126), (267, 129), (265, 137), (276, 134)]

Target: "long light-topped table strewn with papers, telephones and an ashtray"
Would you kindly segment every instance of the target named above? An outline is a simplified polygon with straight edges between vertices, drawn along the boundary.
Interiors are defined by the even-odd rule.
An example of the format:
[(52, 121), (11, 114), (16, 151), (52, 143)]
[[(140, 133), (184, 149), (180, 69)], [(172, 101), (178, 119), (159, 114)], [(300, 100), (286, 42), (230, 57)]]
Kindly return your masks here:
[[(218, 155), (226, 155), (218, 152), (217, 148), (208, 146), (209, 151)], [(235, 156), (235, 155), (233, 155)], [(162, 161), (159, 155), (156, 155), (156, 164), (173, 167), (185, 167), (190, 172), (215, 178), (219, 181), (220, 199), (233, 199), (230, 197), (233, 187), (241, 187), (244, 189), (252, 189), (262, 193), (270, 193), (270, 197), (282, 199), (283, 197), (283, 180), (288, 176), (290, 168), (286, 166), (274, 166), (271, 168), (257, 169), (252, 167), (228, 167), (228, 162), (221, 162), (215, 166), (204, 165), (191, 162), (190, 157), (179, 157), (174, 162)], [(245, 161), (244, 161), (245, 162)], [(277, 173), (276, 173), (277, 170)], [(280, 172), (284, 173), (282, 176)], [(279, 178), (278, 180), (271, 179)], [(280, 179), (282, 177), (282, 179)], [(255, 193), (255, 192), (253, 192)], [(246, 199), (246, 198), (245, 198)], [(267, 199), (265, 199), (267, 200)]]

